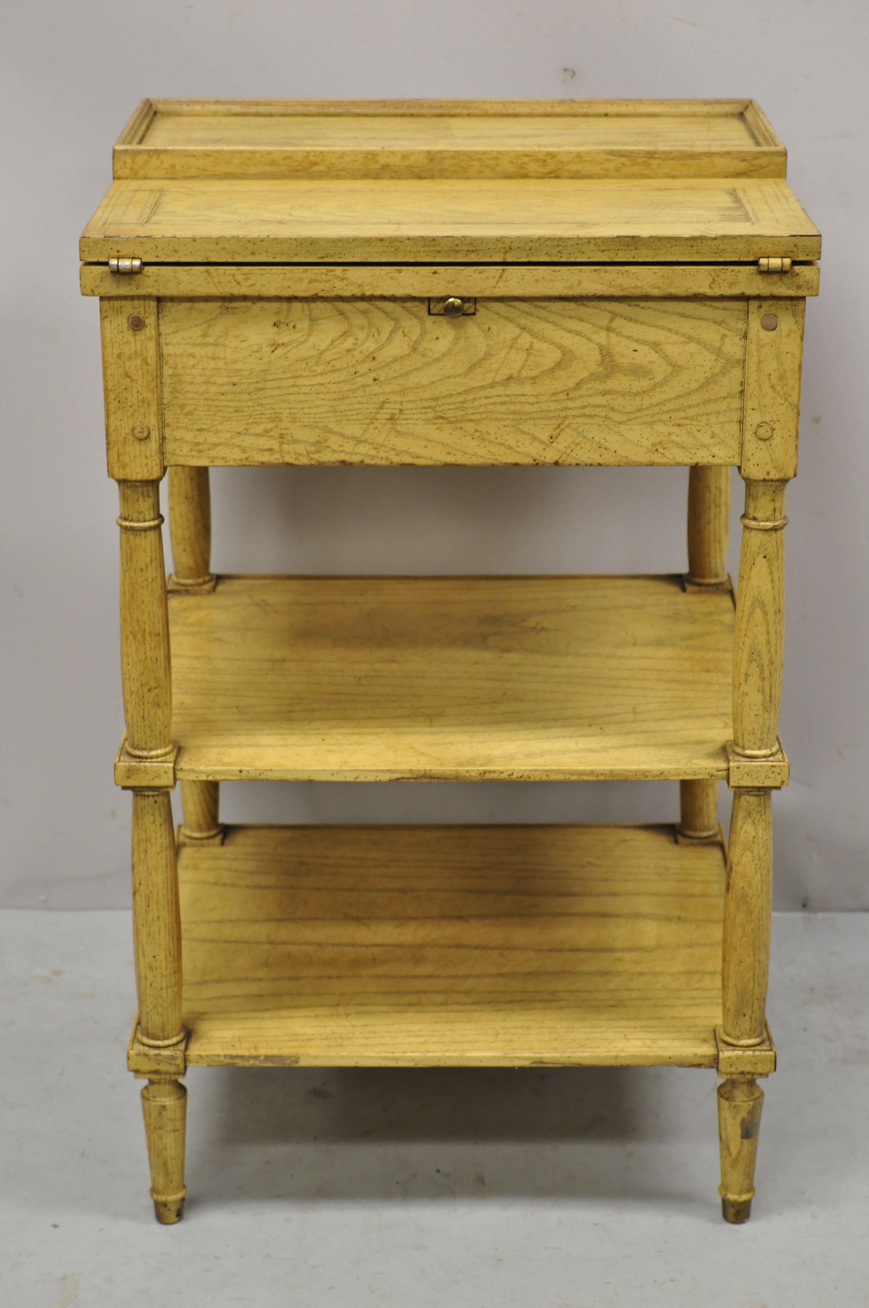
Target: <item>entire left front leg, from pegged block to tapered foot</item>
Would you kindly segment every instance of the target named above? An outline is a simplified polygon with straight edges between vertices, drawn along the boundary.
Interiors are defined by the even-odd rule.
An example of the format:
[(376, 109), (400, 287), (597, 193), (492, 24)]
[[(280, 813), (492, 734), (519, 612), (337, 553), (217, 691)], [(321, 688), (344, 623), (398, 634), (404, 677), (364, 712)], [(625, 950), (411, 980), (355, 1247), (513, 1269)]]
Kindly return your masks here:
[[(154, 1059), (179, 1054), (183, 1069), (181, 913), (175, 833), (171, 663), (160, 514), (165, 473), (160, 394), (158, 303), (153, 297), (99, 301), (106, 453), (120, 497), (120, 670), (132, 789), (132, 906), (139, 1024), (133, 1040)], [(162, 761), (161, 761), (162, 760)], [(168, 765), (166, 765), (168, 764)], [(149, 776), (154, 783), (148, 785)], [(141, 780), (145, 778), (145, 785)], [(158, 1222), (181, 1218), (185, 1109), (178, 1075), (148, 1071), (141, 1105)]]

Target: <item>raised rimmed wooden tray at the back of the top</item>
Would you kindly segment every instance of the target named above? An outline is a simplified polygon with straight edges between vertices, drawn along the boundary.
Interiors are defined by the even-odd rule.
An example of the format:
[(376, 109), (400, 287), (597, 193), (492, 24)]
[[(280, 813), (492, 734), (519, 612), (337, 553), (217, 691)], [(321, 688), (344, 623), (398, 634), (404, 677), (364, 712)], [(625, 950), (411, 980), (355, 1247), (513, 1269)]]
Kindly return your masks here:
[(754, 101), (143, 101), (115, 178), (784, 177)]

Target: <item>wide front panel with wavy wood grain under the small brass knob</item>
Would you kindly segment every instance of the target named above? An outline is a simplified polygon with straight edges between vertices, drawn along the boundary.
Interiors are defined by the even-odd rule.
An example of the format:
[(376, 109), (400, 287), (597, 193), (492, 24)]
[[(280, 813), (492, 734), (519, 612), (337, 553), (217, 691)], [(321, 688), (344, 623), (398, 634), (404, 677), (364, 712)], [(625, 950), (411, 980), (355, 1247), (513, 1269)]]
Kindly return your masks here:
[(739, 300), (164, 300), (170, 464), (738, 464)]

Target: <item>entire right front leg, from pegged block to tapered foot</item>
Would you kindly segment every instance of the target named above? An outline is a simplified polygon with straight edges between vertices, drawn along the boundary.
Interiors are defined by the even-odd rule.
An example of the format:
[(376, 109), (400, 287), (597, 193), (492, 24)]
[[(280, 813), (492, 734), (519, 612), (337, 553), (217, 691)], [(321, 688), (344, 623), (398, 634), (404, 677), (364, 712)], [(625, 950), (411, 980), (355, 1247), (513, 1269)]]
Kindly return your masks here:
[[(721, 1210), (747, 1222), (754, 1197), (763, 1091), (756, 1067), (767, 1041), (772, 912), (772, 794), (734, 786), (733, 761), (779, 753), (784, 661), (785, 489), (797, 471), (805, 300), (750, 300), (739, 473), (745, 481), (733, 645), (733, 815), (728, 841), (718, 1066)], [(745, 772), (745, 766), (742, 768)], [(751, 1050), (758, 1065), (750, 1066)], [(739, 1053), (742, 1052), (742, 1053)], [(772, 1053), (772, 1050), (767, 1050)], [(745, 1071), (734, 1065), (743, 1061)], [(724, 1069), (722, 1069), (724, 1071)], [(763, 1074), (763, 1073), (762, 1073)]]

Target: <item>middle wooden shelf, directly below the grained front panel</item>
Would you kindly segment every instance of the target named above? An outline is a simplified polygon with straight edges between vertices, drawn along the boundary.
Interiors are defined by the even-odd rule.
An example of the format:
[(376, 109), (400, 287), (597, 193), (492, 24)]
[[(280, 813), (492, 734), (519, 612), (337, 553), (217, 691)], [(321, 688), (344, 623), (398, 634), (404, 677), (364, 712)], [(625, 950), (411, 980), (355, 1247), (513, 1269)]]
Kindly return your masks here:
[(175, 773), (728, 776), (734, 608), (666, 577), (220, 577), (169, 596)]

